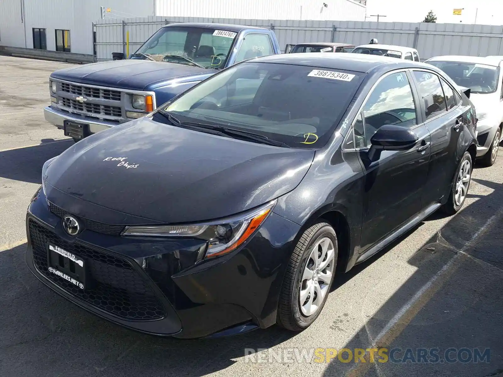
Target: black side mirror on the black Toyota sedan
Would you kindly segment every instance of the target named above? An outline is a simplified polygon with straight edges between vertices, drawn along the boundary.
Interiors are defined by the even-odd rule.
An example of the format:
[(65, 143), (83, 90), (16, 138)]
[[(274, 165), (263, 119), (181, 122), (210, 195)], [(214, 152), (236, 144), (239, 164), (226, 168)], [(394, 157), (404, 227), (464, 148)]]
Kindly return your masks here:
[(410, 129), (392, 124), (379, 128), (370, 139), (369, 149), (371, 161), (379, 159), (383, 150), (407, 150), (417, 143), (417, 135)]

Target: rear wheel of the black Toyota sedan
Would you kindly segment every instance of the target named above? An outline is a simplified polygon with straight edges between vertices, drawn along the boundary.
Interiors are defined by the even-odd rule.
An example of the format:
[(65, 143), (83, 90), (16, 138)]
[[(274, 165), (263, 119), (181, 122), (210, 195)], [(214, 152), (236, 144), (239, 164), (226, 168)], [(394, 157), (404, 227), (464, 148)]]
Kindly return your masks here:
[(470, 153), (465, 152), (456, 169), (456, 175), (452, 182), (452, 190), (449, 199), (447, 203), (442, 206), (442, 210), (447, 215), (454, 215), (463, 207), (470, 188), (472, 170), (473, 163)]

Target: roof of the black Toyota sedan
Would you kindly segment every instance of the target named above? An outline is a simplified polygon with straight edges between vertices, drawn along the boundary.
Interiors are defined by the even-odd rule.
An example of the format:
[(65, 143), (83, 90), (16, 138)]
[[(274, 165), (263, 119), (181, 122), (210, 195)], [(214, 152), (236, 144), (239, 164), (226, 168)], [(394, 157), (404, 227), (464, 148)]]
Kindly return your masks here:
[(375, 68), (384, 68), (386, 66), (389, 67), (389, 70), (413, 67), (428, 69), (435, 68), (431, 64), (387, 56), (364, 54), (327, 54), (323, 52), (269, 55), (250, 59), (250, 61), (304, 65), (307, 67), (323, 67), (327, 69), (342, 69), (365, 73), (368, 73)]

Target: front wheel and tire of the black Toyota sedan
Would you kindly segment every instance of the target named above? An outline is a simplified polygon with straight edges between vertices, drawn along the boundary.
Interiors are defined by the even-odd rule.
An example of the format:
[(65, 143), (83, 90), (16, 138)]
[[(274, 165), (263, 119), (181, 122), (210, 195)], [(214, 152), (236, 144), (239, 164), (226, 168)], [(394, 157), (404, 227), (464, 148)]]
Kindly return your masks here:
[(302, 233), (283, 279), (278, 325), (301, 331), (314, 322), (330, 292), (337, 256), (337, 235), (326, 222), (318, 222)]

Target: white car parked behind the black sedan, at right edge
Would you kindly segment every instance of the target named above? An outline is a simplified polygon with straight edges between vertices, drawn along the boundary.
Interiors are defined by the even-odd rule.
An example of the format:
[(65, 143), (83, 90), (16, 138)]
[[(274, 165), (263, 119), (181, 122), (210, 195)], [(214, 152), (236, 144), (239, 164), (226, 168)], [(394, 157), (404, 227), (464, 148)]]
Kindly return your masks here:
[(477, 158), (485, 166), (496, 162), (503, 140), (503, 60), (497, 57), (436, 56), (427, 60), (459, 86), (470, 88), (477, 109)]

